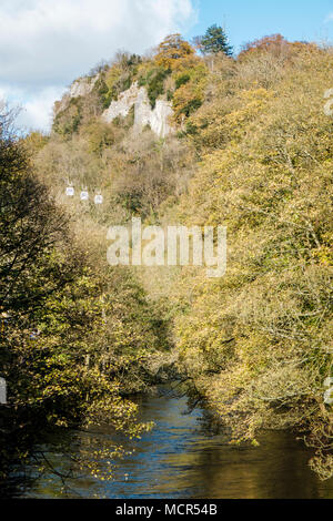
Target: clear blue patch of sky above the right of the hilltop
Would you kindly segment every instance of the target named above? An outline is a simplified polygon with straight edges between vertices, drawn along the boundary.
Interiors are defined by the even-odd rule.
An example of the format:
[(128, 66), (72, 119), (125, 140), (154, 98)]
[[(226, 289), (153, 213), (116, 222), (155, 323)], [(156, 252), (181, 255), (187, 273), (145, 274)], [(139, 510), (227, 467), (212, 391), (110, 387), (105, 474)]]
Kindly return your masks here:
[[(333, 41), (333, 0), (201, 0), (192, 38), (218, 23), (225, 25), (235, 50), (246, 41), (280, 32), (289, 40)], [(331, 19), (330, 19), (331, 14)]]

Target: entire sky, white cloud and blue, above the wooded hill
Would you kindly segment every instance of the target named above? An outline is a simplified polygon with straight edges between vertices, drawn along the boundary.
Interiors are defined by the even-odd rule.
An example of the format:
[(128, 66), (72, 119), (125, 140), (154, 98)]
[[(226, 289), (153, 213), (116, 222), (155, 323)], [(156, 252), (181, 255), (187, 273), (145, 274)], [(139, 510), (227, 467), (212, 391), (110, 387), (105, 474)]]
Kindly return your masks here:
[(19, 124), (48, 132), (78, 76), (120, 49), (144, 53), (167, 34), (218, 23), (235, 52), (263, 35), (333, 42), (333, 0), (0, 0), (0, 99)]

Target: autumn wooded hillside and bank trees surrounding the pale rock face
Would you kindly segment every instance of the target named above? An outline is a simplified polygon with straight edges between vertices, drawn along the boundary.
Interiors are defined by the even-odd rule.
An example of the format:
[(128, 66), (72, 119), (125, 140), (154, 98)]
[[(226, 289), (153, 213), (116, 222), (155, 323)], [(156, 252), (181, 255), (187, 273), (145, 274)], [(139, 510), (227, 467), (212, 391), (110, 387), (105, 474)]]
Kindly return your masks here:
[[(27, 315), (38, 340), (22, 341), (18, 326), (6, 340), (4, 376), (13, 386), (20, 360), (33, 360), (18, 403), (32, 400), (50, 409), (51, 422), (68, 425), (69, 396), (80, 421), (111, 396), (125, 427), (132, 406), (122, 397), (147, 389), (151, 369), (176, 359), (190, 395), (205, 401), (233, 442), (292, 428), (315, 448), (313, 469), (323, 479), (333, 474), (332, 406), (324, 398), (333, 376), (333, 119), (324, 111), (332, 65), (331, 48), (280, 35), (248, 44), (236, 59), (229, 48), (201, 58), (171, 35), (149, 57), (119, 53), (99, 65), (84, 79), (85, 93), (56, 105), (50, 135), (23, 140), (34, 183), (51, 194), (42, 200), (53, 201), (52, 215), (67, 216), (68, 232), (37, 256), (46, 278), (36, 264), (28, 270), (42, 295), (42, 306)], [(102, 120), (133, 82), (147, 89), (151, 108), (172, 104), (172, 134), (133, 132), (133, 111)], [(65, 196), (69, 185), (74, 197)], [(80, 201), (83, 188), (89, 202)], [(191, 266), (110, 268), (108, 227), (132, 216), (226, 226), (226, 275), (209, 279)], [(68, 279), (44, 295), (53, 270)], [(14, 306), (8, 313), (21, 319)], [(93, 396), (90, 405), (84, 396)]]

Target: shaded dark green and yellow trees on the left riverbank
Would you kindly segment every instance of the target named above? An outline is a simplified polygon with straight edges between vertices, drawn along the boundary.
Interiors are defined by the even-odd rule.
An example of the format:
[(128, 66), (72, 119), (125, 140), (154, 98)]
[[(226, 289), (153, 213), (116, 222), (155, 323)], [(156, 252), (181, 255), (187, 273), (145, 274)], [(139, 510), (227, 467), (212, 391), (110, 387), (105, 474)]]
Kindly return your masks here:
[[(137, 406), (120, 388), (144, 385), (138, 353), (147, 359), (158, 341), (141, 288), (74, 238), (33, 170), (29, 141), (14, 133), (14, 115), (0, 105), (0, 375), (9, 389), (0, 411), (1, 498), (13, 461), (24, 464), (32, 453), (44, 461), (33, 447), (48, 429), (108, 421), (138, 436)], [(93, 471), (91, 457), (75, 464)]]

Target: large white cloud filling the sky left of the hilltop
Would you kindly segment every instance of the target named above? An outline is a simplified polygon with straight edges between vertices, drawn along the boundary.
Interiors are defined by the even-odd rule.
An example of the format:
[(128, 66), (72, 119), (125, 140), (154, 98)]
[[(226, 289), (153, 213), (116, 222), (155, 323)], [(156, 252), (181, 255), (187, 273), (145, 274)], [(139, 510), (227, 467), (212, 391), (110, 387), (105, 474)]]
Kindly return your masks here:
[(118, 49), (144, 52), (194, 18), (194, 0), (1, 0), (0, 95), (23, 103), (28, 126), (47, 127), (75, 78)]

